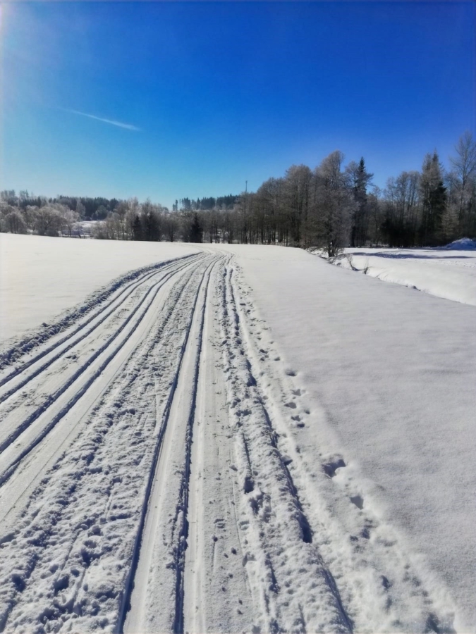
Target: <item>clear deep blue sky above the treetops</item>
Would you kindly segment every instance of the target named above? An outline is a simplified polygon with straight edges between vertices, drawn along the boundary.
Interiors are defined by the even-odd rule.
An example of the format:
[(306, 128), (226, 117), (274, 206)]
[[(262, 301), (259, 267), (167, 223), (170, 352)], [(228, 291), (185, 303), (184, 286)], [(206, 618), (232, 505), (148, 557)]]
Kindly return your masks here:
[(475, 132), (472, 1), (0, 11), (0, 189), (171, 206), (255, 190), (334, 149), (384, 186), (434, 148), (448, 164)]

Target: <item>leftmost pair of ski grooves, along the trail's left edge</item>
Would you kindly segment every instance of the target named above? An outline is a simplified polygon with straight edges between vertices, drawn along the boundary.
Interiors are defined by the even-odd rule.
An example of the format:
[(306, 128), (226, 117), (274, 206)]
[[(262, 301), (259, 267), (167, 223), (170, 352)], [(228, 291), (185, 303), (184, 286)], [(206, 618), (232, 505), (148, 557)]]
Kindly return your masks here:
[[(203, 256), (202, 254), (200, 254), (200, 256), (186, 256), (186, 257), (191, 259), (188, 260), (188, 262), (185, 262), (183, 266), (187, 266), (189, 263), (193, 261), (200, 261), (200, 259), (202, 259)], [(27, 378), (22, 380), (21, 383), (19, 383), (15, 387), (12, 387), (11, 390), (8, 390), (7, 392), (4, 392), (4, 394), (1, 394), (0, 403), (3, 403), (6, 399), (8, 399), (8, 397), (11, 397), (12, 394), (20, 390), (25, 385), (27, 385), (27, 383), (29, 383), (29, 381), (32, 380), (32, 378), (35, 378), (35, 376), (37, 376), (39, 373), (43, 372), (46, 368), (48, 368), (51, 365), (51, 363), (56, 361), (56, 359), (59, 359), (66, 352), (68, 352), (73, 346), (75, 346), (80, 341), (85, 339), (85, 337), (90, 335), (91, 332), (93, 332), (99, 325), (101, 325), (112, 313), (120, 309), (121, 306), (123, 306), (123, 304), (126, 303), (130, 295), (133, 294), (133, 292), (138, 289), (138, 287), (142, 286), (145, 282), (150, 280), (150, 278), (154, 277), (154, 275), (157, 275), (160, 273), (167, 273), (170, 269), (172, 269), (175, 272), (178, 272), (179, 270), (181, 270), (183, 266), (181, 268), (175, 269), (177, 264), (181, 263), (181, 261), (182, 259), (180, 259), (180, 261), (173, 261), (171, 263), (166, 263), (164, 264), (164, 266), (162, 266), (161, 268), (157, 270), (154, 270), (152, 272), (149, 271), (148, 273), (145, 273), (145, 275), (143, 275), (142, 278), (140, 278), (139, 280), (134, 280), (133, 282), (130, 282), (130, 284), (128, 284), (118, 295), (116, 295), (116, 297), (114, 297), (109, 302), (107, 302), (107, 304), (104, 304), (104, 306), (102, 306), (101, 309), (99, 309), (99, 311), (97, 311), (96, 313), (94, 313), (94, 315), (91, 315), (89, 318), (87, 318), (87, 320), (83, 321), (83, 323), (80, 323), (77, 326), (77, 328), (73, 330), (73, 332), (69, 332), (68, 335), (66, 335), (59, 341), (55, 342), (50, 347), (47, 347), (46, 349), (42, 350), (42, 352), (39, 352), (39, 354), (34, 356), (32, 359), (25, 361), (25, 363), (23, 363), (21, 366), (19, 366), (18, 368), (13, 370), (11, 373), (9, 373), (6, 377), (1, 379), (0, 387), (3, 387), (4, 385), (6, 385), (6, 383), (9, 383), (18, 375), (28, 370), (28, 368), (30, 368), (34, 363), (37, 363), (37, 361), (42, 359), (44, 356), (47, 356), (47, 354), (49, 354), (50, 352), (54, 352), (55, 349), (59, 349), (59, 347), (61, 347), (65, 342), (68, 342), (69, 340), (69, 343), (67, 344), (67, 346), (61, 349), (61, 351), (58, 354), (56, 354), (51, 359), (49, 359), (47, 363), (44, 363), (43, 366), (41, 366), (40, 368), (37, 368), (37, 370), (35, 370), (30, 375), (28, 375)], [(119, 299), (121, 300), (120, 302), (118, 302)], [(107, 309), (109, 309), (109, 307), (111, 306), (111, 304), (115, 304), (116, 302), (118, 302), (116, 306), (113, 306), (113, 308), (109, 312), (106, 312)], [(92, 325), (92, 328), (90, 328), (89, 330), (86, 330), (85, 332), (81, 332), (82, 330), (85, 330), (87, 325), (89, 325), (94, 319), (96, 319), (100, 315), (102, 315), (102, 318), (99, 321), (97, 321), (97, 323), (94, 323), (94, 325)], [(78, 332), (81, 332), (80, 337), (73, 340), (73, 337), (77, 335)], [(0, 451), (1, 451), (1, 447), (0, 447)]]

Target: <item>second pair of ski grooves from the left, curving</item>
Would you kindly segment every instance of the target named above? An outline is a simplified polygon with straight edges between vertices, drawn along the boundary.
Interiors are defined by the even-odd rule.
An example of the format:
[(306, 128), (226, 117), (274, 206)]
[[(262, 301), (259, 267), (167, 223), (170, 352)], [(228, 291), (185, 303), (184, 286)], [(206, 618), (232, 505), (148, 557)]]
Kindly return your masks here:
[[(144, 295), (144, 297), (142, 297), (142, 299), (140, 300), (138, 306), (136, 306), (135, 309), (133, 309), (133, 311), (130, 313), (130, 315), (117, 328), (117, 330), (114, 332), (114, 334), (111, 335), (111, 337), (101, 347), (99, 347), (99, 349), (97, 349), (97, 351), (94, 352), (94, 354), (92, 354), (92, 356), (90, 356), (90, 359), (87, 359), (87, 361), (85, 363), (83, 363), (83, 366), (78, 368), (78, 371), (76, 371), (71, 378), (69, 378), (65, 383), (63, 383), (63, 385), (59, 388), (59, 390), (56, 390), (56, 392), (54, 394), (50, 394), (49, 397), (46, 399), (46, 401), (42, 405), (40, 405), (34, 412), (32, 412), (32, 414), (30, 414), (30, 416), (28, 416), (28, 418), (26, 418), (25, 421), (20, 423), (20, 425), (18, 425), (16, 430), (14, 430), (13, 433), (11, 433), (11, 435), (9, 435), (6, 438), (6, 440), (4, 440), (4, 442), (0, 445), (0, 452), (3, 452), (6, 449), (6, 447), (11, 445), (11, 443), (14, 442), (16, 440), (16, 438), (18, 438), (20, 436), (21, 433), (23, 433), (39, 416), (44, 414), (44, 412), (47, 411), (47, 409), (54, 402), (56, 402), (56, 400), (59, 399), (59, 397), (61, 397), (61, 394), (63, 394), (63, 392), (66, 392), (68, 387), (70, 387), (71, 385), (73, 385), (73, 383), (75, 383), (75, 380), (77, 380), (87, 370), (87, 368), (91, 365), (91, 363), (95, 359), (97, 359), (99, 354), (102, 354), (102, 352), (104, 352), (111, 345), (111, 343), (114, 342), (114, 340), (116, 340), (118, 335), (123, 331), (124, 328), (126, 328), (126, 325), (128, 325), (128, 323), (130, 323), (130, 321), (132, 320), (133, 316), (135, 316), (135, 313), (137, 313), (138, 310), (140, 309), (140, 307), (143, 304), (145, 304), (145, 301), (146, 301), (147, 297), (149, 297), (149, 294), (152, 294), (152, 297), (151, 297), (151, 299), (149, 299), (149, 302), (145, 306), (145, 309), (142, 311), (142, 313), (138, 317), (137, 321), (135, 321), (135, 323), (133, 323), (133, 328), (130, 330), (130, 333), (129, 333), (130, 335), (132, 335), (133, 332), (138, 328), (138, 325), (141, 323), (142, 319), (147, 314), (147, 311), (149, 310), (150, 306), (154, 302), (154, 299), (157, 296), (157, 293), (159, 292), (161, 287), (173, 275), (176, 275), (176, 273), (181, 271), (186, 266), (190, 266), (190, 262), (187, 262), (183, 266), (178, 267), (178, 269), (171, 271), (170, 273), (165, 275), (162, 280), (159, 280), (158, 282), (156, 282), (155, 285), (150, 287), (149, 290), (147, 291), (147, 293)], [(8, 480), (8, 478), (11, 477), (12, 473), (14, 473), (14, 471), (16, 470), (16, 468), (18, 467), (20, 462), (25, 458), (25, 456), (28, 456), (28, 454), (32, 451), (32, 449), (35, 449), (35, 447), (37, 447), (37, 445), (39, 445), (39, 442), (42, 442), (44, 437), (46, 437), (50, 433), (50, 431), (55, 427), (55, 425), (59, 421), (61, 421), (61, 418), (63, 418), (63, 416), (65, 416), (68, 413), (68, 411), (75, 405), (75, 403), (78, 402), (78, 400), (81, 397), (83, 397), (83, 394), (85, 394), (85, 392), (87, 392), (87, 390), (92, 385), (92, 383), (94, 383), (94, 381), (104, 371), (106, 366), (108, 366), (109, 363), (112, 361), (112, 359), (114, 359), (116, 354), (118, 354), (119, 350), (126, 343), (126, 340), (127, 340), (126, 338), (123, 338), (121, 341), (118, 342), (116, 347), (111, 351), (111, 354), (109, 354), (109, 356), (106, 357), (106, 359), (99, 366), (99, 368), (97, 368), (97, 370), (94, 371), (94, 373), (90, 376), (90, 378), (87, 379), (86, 383), (84, 383), (83, 386), (80, 387), (80, 389), (77, 392), (75, 392), (75, 394), (68, 401), (68, 403), (65, 406), (63, 406), (63, 408), (61, 409), (59, 414), (56, 414), (56, 416), (54, 416), (51, 419), (51, 421), (49, 421), (47, 423), (47, 425), (44, 426), (44, 428), (41, 430), (39, 435), (37, 435), (37, 437), (35, 437), (35, 440), (32, 440), (32, 442), (30, 442), (30, 444), (27, 445), (23, 449), (23, 451), (20, 452), (20, 454), (18, 454), (18, 456), (16, 456), (16, 459), (14, 459), (11, 462), (11, 464), (8, 465), (7, 468), (4, 468), (4, 471), (2, 473), (0, 473), (0, 485), (4, 484), (6, 482), (6, 480)]]

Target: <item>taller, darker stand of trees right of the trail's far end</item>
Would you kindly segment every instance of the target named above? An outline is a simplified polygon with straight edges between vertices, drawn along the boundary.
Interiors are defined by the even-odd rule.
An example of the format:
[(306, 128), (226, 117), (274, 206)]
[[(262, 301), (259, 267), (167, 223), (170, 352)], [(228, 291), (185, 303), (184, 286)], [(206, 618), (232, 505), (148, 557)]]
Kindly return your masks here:
[(197, 213), (209, 242), (322, 247), (329, 256), (341, 247), (436, 247), (460, 237), (476, 237), (476, 142), (465, 132), (442, 165), (437, 151), (421, 170), (403, 171), (380, 189), (365, 159), (344, 165), (334, 151), (314, 170), (291, 166), (256, 192), (242, 192), (228, 210), (203, 211), (201, 201), (185, 200), (183, 211)]

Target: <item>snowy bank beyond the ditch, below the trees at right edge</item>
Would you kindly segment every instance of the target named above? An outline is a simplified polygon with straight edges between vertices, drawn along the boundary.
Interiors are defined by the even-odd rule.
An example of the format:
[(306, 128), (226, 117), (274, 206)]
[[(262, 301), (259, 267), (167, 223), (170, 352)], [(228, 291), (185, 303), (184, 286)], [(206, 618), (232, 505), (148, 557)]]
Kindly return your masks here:
[[(317, 249), (311, 253), (325, 257)], [(476, 242), (468, 238), (438, 249), (346, 249), (330, 262), (384, 282), (476, 306)]]

